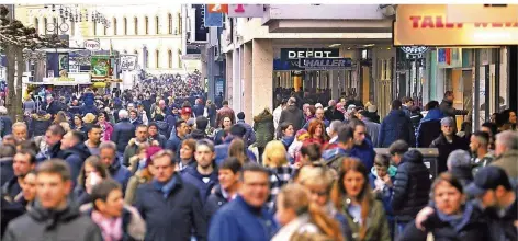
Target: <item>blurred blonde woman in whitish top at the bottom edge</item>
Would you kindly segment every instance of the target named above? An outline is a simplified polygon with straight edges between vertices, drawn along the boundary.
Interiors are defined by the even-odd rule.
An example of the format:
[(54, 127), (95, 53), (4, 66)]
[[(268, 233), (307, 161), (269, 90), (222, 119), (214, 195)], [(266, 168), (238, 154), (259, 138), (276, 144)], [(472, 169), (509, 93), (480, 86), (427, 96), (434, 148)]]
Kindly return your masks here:
[(342, 241), (339, 223), (309, 200), (306, 188), (288, 184), (277, 198), (277, 219), (283, 227), (272, 241), (329, 240)]

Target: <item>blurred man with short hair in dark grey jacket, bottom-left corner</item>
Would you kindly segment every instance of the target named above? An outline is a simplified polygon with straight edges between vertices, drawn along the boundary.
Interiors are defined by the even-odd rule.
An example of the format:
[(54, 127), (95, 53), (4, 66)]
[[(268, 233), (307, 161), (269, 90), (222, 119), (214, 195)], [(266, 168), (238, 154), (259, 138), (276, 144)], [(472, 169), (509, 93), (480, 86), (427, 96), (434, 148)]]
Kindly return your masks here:
[(38, 202), (9, 223), (2, 240), (103, 240), (99, 227), (68, 198), (72, 183), (67, 163), (58, 159), (45, 161), (36, 173)]

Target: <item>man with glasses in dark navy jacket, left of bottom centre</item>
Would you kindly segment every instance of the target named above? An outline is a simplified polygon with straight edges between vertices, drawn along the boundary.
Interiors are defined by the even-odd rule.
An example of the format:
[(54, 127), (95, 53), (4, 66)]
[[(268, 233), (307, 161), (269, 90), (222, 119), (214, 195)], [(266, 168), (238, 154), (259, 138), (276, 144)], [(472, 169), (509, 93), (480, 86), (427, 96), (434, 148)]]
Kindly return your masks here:
[[(145, 240), (206, 240), (206, 220), (199, 190), (174, 172), (177, 159), (170, 150), (151, 157), (154, 179), (140, 186), (135, 206), (146, 220)], [(173, 227), (173, 228), (171, 228)]]

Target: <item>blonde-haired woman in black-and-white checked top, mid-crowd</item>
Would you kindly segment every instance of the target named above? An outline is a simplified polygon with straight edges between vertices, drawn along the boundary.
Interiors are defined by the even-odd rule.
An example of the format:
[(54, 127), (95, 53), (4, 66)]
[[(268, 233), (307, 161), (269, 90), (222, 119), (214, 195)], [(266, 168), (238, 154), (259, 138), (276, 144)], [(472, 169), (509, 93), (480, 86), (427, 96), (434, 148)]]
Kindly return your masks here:
[(264, 147), (262, 164), (270, 170), (270, 199), (269, 208), (274, 208), (274, 200), (281, 187), (290, 182), (294, 168), (290, 167), (286, 158), (286, 149), (280, 140), (272, 140)]

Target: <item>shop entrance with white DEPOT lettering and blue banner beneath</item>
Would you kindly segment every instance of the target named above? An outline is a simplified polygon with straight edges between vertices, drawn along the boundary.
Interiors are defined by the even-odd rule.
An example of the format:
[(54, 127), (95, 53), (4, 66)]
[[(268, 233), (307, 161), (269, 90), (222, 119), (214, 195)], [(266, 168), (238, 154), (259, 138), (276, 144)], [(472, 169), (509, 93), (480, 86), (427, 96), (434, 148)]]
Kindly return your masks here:
[(274, 101), (292, 91), (304, 92), (306, 100), (324, 105), (342, 92), (357, 93), (357, 65), (340, 48), (274, 48)]

